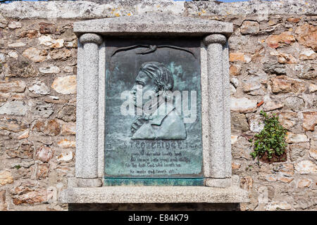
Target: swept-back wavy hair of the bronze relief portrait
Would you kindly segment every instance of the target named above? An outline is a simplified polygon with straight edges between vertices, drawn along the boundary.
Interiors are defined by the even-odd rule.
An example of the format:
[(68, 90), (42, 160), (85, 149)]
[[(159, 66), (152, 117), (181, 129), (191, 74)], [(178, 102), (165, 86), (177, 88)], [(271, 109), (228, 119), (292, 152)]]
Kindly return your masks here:
[(144, 72), (151, 79), (154, 79), (154, 82), (159, 87), (159, 90), (172, 91), (174, 86), (173, 75), (163, 63), (142, 63), (140, 71)]

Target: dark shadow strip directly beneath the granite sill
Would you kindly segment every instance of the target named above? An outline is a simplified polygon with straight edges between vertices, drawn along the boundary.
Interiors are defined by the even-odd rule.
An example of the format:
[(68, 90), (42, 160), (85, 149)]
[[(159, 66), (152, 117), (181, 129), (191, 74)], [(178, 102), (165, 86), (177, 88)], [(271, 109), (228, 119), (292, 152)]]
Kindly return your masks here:
[(240, 211), (240, 203), (68, 204), (69, 211)]

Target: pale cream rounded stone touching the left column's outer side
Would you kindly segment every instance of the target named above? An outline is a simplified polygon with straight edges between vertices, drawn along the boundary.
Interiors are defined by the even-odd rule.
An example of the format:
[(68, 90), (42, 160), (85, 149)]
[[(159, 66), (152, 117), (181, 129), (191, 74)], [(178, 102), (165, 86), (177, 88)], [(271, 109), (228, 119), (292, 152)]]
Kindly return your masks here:
[(76, 76), (56, 77), (51, 88), (61, 94), (76, 94)]

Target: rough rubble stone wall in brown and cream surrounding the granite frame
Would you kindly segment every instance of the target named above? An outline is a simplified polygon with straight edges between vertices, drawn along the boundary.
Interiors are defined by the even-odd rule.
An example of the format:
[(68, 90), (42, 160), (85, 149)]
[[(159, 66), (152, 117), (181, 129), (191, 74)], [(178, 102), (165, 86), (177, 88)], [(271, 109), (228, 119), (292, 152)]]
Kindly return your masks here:
[[(75, 176), (77, 37), (73, 23), (153, 11), (234, 24), (229, 39), (232, 174), (240, 176), (251, 202), (231, 209), (317, 210), (313, 0), (0, 4), (0, 210), (68, 210), (57, 198), (67, 178)], [(289, 131), (285, 162), (257, 162), (249, 155), (248, 140), (261, 129), (260, 110), (277, 113)], [(182, 204), (181, 210), (195, 207)], [(147, 205), (147, 209), (158, 207)], [(217, 210), (217, 206), (203, 204), (197, 209)]]

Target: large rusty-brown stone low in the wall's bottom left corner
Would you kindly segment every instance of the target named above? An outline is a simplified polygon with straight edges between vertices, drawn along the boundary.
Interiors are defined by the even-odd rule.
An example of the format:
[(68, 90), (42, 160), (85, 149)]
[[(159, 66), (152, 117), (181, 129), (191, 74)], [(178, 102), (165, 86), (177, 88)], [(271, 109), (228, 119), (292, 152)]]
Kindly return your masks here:
[(14, 205), (47, 203), (53, 197), (49, 188), (41, 188), (35, 183), (25, 182), (11, 189)]

